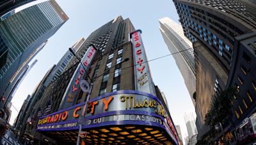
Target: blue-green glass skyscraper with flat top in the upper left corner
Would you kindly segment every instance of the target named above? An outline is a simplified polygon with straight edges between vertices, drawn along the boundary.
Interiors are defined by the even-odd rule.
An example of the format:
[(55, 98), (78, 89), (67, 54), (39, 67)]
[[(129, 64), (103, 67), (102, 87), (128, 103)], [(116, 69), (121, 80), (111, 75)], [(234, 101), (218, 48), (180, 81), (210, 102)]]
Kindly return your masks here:
[(47, 39), (67, 20), (67, 15), (54, 0), (38, 3), (1, 19), (1, 97), (5, 96), (12, 78), (19, 74), (22, 67), (35, 57)]

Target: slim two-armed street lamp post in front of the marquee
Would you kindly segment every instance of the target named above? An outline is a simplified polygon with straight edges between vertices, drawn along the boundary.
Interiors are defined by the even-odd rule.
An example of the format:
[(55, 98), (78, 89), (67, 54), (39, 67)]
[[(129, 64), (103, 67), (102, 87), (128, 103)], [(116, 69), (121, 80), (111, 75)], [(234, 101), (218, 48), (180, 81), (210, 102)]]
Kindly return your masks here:
[[(81, 59), (79, 59), (79, 57), (77, 57), (77, 55), (76, 55), (76, 53), (72, 50), (72, 48), (69, 48), (69, 51), (76, 57), (76, 59), (79, 61), (79, 63), (81, 63), (81, 65), (83, 66), (83, 64), (82, 64), (82, 62), (81, 62)], [(122, 63), (124, 63), (124, 62), (127, 62), (129, 60), (129, 58), (126, 58), (126, 59), (124, 59), (124, 60), (122, 60), (119, 64), (122, 64)], [(97, 76), (97, 77), (95, 77), (95, 78), (90, 78), (90, 76), (88, 75), (88, 72), (86, 71), (86, 69), (84, 68), (84, 66), (83, 66), (83, 68), (84, 68), (84, 71), (85, 71), (85, 77), (86, 76), (88, 76), (88, 78), (90, 78), (90, 90), (89, 90), (89, 92), (88, 92), (88, 95), (87, 95), (87, 97), (86, 97), (86, 102), (85, 102), (85, 106), (84, 106), (84, 110), (83, 110), (83, 113), (82, 113), (82, 116), (84, 116), (84, 114), (86, 113), (86, 111), (87, 111), (87, 102), (88, 102), (88, 100), (89, 100), (89, 98), (90, 98), (90, 95), (91, 95), (91, 93), (92, 93), (92, 87), (93, 87), (93, 82), (95, 81), (95, 79), (97, 79), (97, 78), (99, 78), (100, 76), (102, 76), (104, 73), (106, 73), (107, 71), (109, 71), (110, 69), (112, 69), (113, 67), (115, 67), (115, 66), (117, 66), (118, 64), (116, 64), (116, 65), (114, 65), (114, 66), (112, 66), (112, 67), (109, 67), (108, 69), (106, 69), (106, 71), (104, 71), (104, 72), (102, 72), (102, 74), (100, 74), (99, 76)], [(79, 132), (81, 132), (82, 131), (82, 124), (80, 123), (79, 124)], [(79, 142), (80, 142), (80, 136), (79, 136), (79, 132), (78, 132), (78, 136), (77, 136), (77, 142), (76, 142), (76, 144), (77, 145), (79, 145)]]

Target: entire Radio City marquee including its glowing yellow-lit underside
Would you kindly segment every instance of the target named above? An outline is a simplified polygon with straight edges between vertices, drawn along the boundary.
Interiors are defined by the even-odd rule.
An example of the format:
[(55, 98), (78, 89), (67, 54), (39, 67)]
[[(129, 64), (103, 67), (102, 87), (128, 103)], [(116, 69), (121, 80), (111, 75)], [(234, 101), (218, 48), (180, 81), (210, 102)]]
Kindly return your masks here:
[(43, 116), (37, 131), (56, 141), (76, 142), (79, 124), (84, 141), (102, 144), (178, 144), (178, 136), (163, 104), (149, 93), (123, 90)]

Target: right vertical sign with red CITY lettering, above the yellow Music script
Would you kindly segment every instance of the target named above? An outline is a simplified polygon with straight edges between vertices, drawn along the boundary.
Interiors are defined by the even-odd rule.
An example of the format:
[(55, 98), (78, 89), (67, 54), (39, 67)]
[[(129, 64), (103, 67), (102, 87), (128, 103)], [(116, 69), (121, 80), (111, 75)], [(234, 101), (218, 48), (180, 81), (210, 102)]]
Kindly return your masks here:
[(131, 39), (134, 59), (135, 88), (138, 91), (156, 95), (154, 83), (147, 63), (147, 56), (141, 39), (141, 30), (132, 32)]

